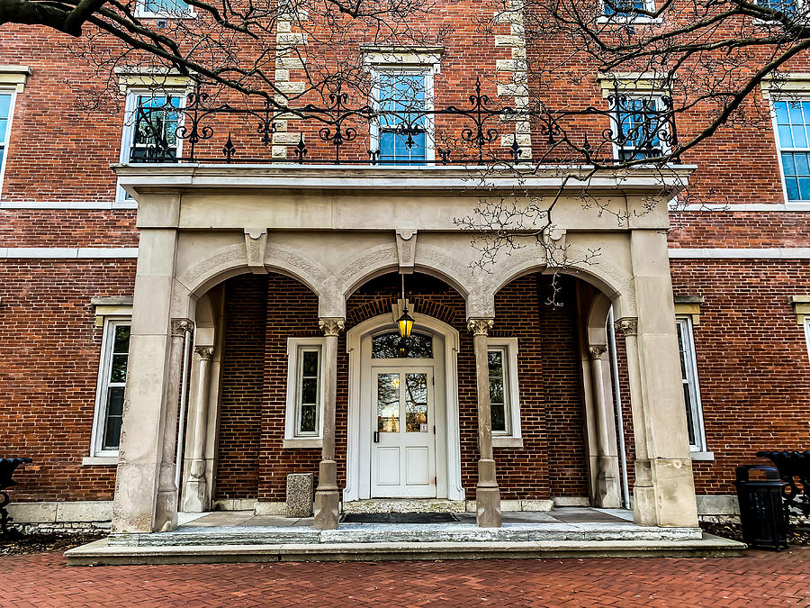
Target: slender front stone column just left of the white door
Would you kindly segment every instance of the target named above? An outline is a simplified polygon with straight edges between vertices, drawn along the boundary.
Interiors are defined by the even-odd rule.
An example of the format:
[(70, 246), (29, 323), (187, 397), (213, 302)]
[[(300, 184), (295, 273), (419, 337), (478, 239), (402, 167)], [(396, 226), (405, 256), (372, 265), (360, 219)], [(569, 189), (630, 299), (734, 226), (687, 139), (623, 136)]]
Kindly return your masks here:
[(321, 318), (318, 323), (326, 337), (323, 345), (323, 443), (315, 490), (315, 528), (337, 530), (340, 516), (338, 463), (335, 461), (335, 411), (338, 402), (338, 334), (344, 320)]

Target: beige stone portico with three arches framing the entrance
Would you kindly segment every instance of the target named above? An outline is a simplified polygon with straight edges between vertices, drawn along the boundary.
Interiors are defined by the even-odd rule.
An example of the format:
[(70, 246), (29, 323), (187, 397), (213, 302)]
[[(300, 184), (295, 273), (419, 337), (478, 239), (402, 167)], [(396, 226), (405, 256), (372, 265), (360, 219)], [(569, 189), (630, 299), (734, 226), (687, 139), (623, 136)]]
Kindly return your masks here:
[[(324, 339), (320, 466), (311, 471), (317, 473), (314, 526), (337, 529), (341, 501), (364, 497), (362, 490), (338, 483), (340, 467), (347, 470), (347, 486), (359, 483), (353, 464), (363, 459), (357, 450), (365, 445), (359, 441), (353, 449), (350, 436), (347, 462), (339, 462), (338, 340), (347, 328), (347, 299), (377, 277), (402, 273), (435, 277), (464, 298), (477, 383), (476, 522), (500, 527), (500, 468), (487, 369), (488, 335), (500, 329), (496, 295), (517, 277), (554, 269), (577, 279), (591, 503), (620, 506), (608, 364), (612, 306), (617, 338), (626, 349), (635, 523), (697, 526), (666, 242), (667, 201), (690, 168), (678, 168), (669, 181), (664, 179), (663, 188), (661, 172), (644, 168), (590, 179), (589, 195), (615, 213), (583, 208), (577, 188), (563, 189), (554, 211), (554, 239), (556, 250), (566, 250), (570, 262), (560, 267), (559, 260), (546, 259), (544, 248), (528, 246), (500, 257), (489, 272), (473, 271), (471, 235), (454, 220), (487, 197), (527, 193), (540, 204), (551, 201), (563, 186), (554, 170), (519, 179), (514, 171), (489, 172), (482, 180), (461, 168), (174, 165), (116, 170), (121, 186), (138, 200), (140, 241), (113, 532), (175, 530), (178, 505), (186, 512), (211, 510), (227, 314), (221, 287), (232, 277), (266, 273), (292, 277), (317, 297), (318, 322), (309, 328)], [(617, 222), (617, 214), (629, 219)], [(593, 250), (599, 250), (595, 259), (588, 254)], [(454, 331), (443, 329), (427, 312), (417, 313), (417, 324), (433, 327), (446, 353), (436, 389), (445, 396), (446, 425), (437, 446), (445, 450), (446, 495), (437, 498), (464, 500), (455, 470), (462, 458), (458, 431), (454, 435), (451, 428), (458, 418)], [(185, 351), (190, 369), (183, 368)], [(350, 373), (361, 364), (358, 356), (349, 353)], [(360, 389), (352, 389), (350, 382), (347, 390), (354, 411)], [(188, 408), (181, 417), (179, 396), (185, 391)], [(184, 437), (179, 476), (178, 420)], [(364, 437), (356, 426), (357, 437)]]

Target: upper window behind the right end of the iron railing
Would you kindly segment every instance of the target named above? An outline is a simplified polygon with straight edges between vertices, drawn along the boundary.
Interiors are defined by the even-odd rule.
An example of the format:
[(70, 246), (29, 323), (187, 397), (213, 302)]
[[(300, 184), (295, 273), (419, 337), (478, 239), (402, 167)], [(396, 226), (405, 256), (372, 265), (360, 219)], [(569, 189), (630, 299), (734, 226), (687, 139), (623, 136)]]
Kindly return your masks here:
[(620, 95), (614, 102), (614, 132), (617, 160), (653, 159), (665, 151), (660, 122), (660, 97)]

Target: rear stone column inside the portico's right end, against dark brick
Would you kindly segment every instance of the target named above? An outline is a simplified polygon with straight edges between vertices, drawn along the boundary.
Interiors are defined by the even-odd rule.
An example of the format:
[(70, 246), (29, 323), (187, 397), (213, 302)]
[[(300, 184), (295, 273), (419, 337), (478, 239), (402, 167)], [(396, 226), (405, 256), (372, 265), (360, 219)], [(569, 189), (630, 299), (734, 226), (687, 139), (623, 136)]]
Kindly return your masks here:
[(612, 408), (608, 407), (605, 395), (605, 373), (602, 358), (608, 352), (607, 345), (590, 346), (590, 380), (592, 386), (593, 406), (597, 423), (597, 492), (595, 496), (599, 506), (618, 508), (619, 479), (617, 455), (611, 450), (610, 431), (613, 425)]

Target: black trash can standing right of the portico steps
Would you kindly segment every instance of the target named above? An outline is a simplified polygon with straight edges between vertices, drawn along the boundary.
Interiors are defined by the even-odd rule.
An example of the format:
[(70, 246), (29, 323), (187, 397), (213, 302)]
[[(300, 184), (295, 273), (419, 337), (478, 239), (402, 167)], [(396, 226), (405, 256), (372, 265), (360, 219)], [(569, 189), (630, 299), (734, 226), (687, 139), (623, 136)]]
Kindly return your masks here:
[[(788, 521), (782, 506), (779, 471), (764, 465), (737, 467), (737, 500), (740, 503), (740, 522), (743, 541), (752, 549), (788, 548)], [(764, 479), (751, 479), (751, 471), (759, 471)]]

